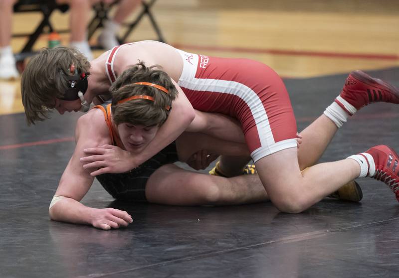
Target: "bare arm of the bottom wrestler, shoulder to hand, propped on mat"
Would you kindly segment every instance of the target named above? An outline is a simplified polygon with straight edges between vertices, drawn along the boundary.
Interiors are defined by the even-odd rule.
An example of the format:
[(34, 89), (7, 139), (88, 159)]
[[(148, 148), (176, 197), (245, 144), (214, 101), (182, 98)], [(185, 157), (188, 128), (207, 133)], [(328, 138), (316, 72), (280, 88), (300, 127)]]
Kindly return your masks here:
[(84, 155), (83, 149), (110, 143), (108, 128), (100, 110), (92, 110), (79, 118), (75, 139), (75, 151), (55, 192), (55, 195), (63, 198), (50, 208), (50, 218), (56, 221), (93, 225), (104, 230), (127, 226), (132, 221), (127, 212), (113, 208), (90, 208), (79, 202), (90, 189), (94, 179), (90, 176), (90, 170), (83, 169), (79, 161)]

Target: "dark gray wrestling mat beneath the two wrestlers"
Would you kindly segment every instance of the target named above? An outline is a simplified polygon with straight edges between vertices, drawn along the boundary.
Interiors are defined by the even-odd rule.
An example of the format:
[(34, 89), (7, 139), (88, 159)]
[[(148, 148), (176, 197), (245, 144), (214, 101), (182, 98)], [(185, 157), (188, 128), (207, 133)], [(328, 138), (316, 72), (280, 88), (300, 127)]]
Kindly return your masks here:
[[(399, 68), (369, 73), (399, 86)], [(286, 80), (299, 130), (331, 104), (346, 76)], [(26, 127), (23, 114), (0, 116), (1, 278), (398, 277), (399, 203), (371, 178), (359, 180), (361, 203), (326, 199), (297, 215), (279, 213), (270, 202), (119, 203), (96, 181), (83, 203), (127, 210), (133, 224), (101, 231), (50, 221), (48, 205), (73, 152), (78, 116), (54, 114), (36, 128)], [(398, 120), (399, 106), (363, 109), (322, 161), (380, 143), (398, 150)]]

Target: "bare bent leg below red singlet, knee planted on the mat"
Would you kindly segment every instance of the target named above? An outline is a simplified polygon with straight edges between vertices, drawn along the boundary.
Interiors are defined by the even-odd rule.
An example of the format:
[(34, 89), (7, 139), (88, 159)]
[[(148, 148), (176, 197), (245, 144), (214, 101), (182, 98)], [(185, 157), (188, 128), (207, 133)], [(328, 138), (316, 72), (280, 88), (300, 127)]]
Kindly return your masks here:
[(354, 159), (344, 159), (317, 164), (301, 173), (297, 148), (265, 156), (255, 166), (270, 200), (279, 210), (290, 213), (309, 208), (359, 177), (361, 170)]

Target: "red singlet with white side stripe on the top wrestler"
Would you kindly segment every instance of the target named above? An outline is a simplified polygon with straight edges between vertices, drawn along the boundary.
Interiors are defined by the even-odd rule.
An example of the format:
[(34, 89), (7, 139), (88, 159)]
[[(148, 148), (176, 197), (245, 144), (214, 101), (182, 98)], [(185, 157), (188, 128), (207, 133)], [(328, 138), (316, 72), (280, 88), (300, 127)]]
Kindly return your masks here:
[[(111, 83), (120, 49), (110, 50), (105, 65)], [(281, 78), (249, 59), (218, 58), (177, 49), (183, 59), (178, 85), (194, 109), (232, 116), (241, 123), (252, 159), (296, 147), (296, 121)]]

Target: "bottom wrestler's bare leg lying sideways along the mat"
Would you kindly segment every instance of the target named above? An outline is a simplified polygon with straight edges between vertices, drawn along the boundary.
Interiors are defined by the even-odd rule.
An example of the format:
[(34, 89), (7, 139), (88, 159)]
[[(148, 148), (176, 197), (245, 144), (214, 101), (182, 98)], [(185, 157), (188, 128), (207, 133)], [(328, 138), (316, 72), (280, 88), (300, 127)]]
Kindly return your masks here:
[(173, 164), (164, 165), (151, 175), (146, 198), (151, 203), (166, 205), (237, 205), (268, 200), (257, 175), (225, 178)]

